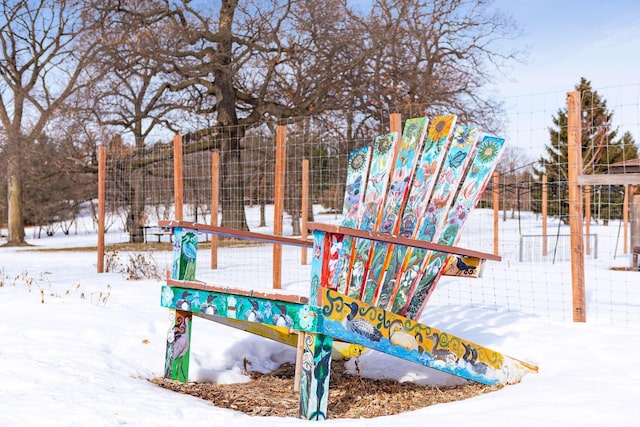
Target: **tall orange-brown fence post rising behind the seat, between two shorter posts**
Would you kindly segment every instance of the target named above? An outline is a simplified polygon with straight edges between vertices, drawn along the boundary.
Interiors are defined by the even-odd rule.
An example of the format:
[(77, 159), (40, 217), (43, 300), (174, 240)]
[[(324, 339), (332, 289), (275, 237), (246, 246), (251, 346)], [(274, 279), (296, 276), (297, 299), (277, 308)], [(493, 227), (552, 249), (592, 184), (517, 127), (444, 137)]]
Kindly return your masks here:
[[(284, 179), (287, 159), (287, 127), (278, 126), (276, 130), (276, 174), (273, 195), (273, 234), (282, 236), (282, 217), (284, 211)], [(282, 245), (273, 245), (273, 288), (282, 287)]]

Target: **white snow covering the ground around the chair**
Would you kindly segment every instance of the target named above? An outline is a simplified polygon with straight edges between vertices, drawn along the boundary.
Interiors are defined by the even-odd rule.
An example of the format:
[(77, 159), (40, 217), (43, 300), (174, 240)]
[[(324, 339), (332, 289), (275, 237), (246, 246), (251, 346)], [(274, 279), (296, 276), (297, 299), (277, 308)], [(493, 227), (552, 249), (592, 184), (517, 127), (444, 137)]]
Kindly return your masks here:
[[(477, 221), (485, 221), (483, 215), (488, 214), (479, 213)], [(517, 227), (514, 221), (506, 224)], [(169, 325), (167, 310), (159, 304), (161, 282), (130, 281), (115, 272), (96, 274), (95, 252), (35, 250), (95, 245), (97, 239), (90, 228), (80, 228), (76, 235), (30, 240), (34, 245), (30, 248), (0, 247), (0, 425), (309, 425), (292, 418), (249, 417), (148, 382), (161, 376), (164, 367)], [(470, 226), (470, 235), (473, 230)], [(510, 233), (517, 234), (517, 228), (504, 235)], [(640, 371), (633, 363), (640, 354), (640, 326), (634, 321), (640, 307), (640, 294), (634, 290), (640, 286), (640, 273), (611, 276), (609, 267), (625, 265), (628, 259), (613, 256), (606, 242), (614, 240), (602, 240), (598, 260), (589, 263), (588, 274), (589, 280), (595, 278), (604, 283), (598, 286), (605, 287), (592, 289), (588, 281), (586, 324), (571, 322), (568, 263), (518, 267), (509, 255), (513, 248), (509, 249), (508, 239), (501, 248), (503, 262), (489, 265), (480, 281), (443, 281), (422, 316), (424, 323), (533, 361), (540, 366), (538, 374), (465, 401), (393, 417), (324, 423), (638, 425)], [(491, 251), (487, 245), (468, 246)], [(238, 261), (238, 254), (245, 252), (262, 253), (268, 260), (271, 248), (222, 249), (220, 262)], [(299, 248), (284, 252), (285, 265), (298, 276), (308, 268), (299, 265), (299, 253)], [(120, 254), (123, 262), (126, 255)], [(168, 254), (156, 256), (162, 264)], [(201, 262), (203, 267), (206, 264)], [(227, 266), (221, 270), (243, 274), (238, 269), (231, 273), (234, 269)], [(239, 282), (254, 283), (242, 277)], [(304, 286), (304, 280), (285, 276), (286, 288), (304, 293)], [(558, 291), (560, 288), (563, 290)], [(529, 310), (532, 299), (540, 309), (538, 314)], [(625, 321), (602, 315), (618, 311), (627, 313)], [(254, 369), (270, 370), (295, 356), (292, 348), (199, 318), (194, 319), (192, 345), (190, 379), (194, 381), (245, 381), (244, 358)], [(458, 381), (380, 354), (361, 356), (359, 368), (371, 377), (433, 384)]]

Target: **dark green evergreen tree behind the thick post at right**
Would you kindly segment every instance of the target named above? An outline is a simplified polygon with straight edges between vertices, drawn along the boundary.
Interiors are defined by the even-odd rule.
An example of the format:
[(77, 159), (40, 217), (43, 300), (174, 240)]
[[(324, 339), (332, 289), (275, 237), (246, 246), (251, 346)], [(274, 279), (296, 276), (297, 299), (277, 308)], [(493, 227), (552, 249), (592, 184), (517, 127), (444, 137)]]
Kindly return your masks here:
[[(591, 82), (584, 77), (576, 85), (580, 91), (582, 106), (582, 174), (606, 174), (609, 165), (621, 161), (638, 158), (638, 147), (629, 132), (618, 137), (618, 129), (614, 128), (613, 112), (607, 109), (607, 102), (597, 91), (591, 88)], [(540, 181), (547, 175), (550, 215), (566, 219), (568, 213), (568, 111), (567, 107), (558, 110), (552, 118), (553, 126), (549, 129), (550, 143), (545, 147), (545, 155), (539, 159), (539, 166), (534, 168), (538, 180), (532, 192), (540, 194)], [(619, 189), (615, 186), (600, 186), (596, 191), (611, 194), (606, 207), (592, 206), (594, 213), (603, 218), (618, 218), (621, 215)], [(606, 187), (606, 188), (605, 188)], [(540, 212), (540, 198), (533, 205), (535, 212)]]

